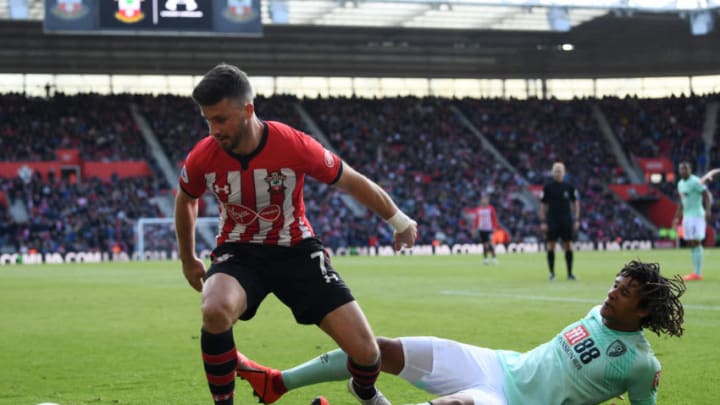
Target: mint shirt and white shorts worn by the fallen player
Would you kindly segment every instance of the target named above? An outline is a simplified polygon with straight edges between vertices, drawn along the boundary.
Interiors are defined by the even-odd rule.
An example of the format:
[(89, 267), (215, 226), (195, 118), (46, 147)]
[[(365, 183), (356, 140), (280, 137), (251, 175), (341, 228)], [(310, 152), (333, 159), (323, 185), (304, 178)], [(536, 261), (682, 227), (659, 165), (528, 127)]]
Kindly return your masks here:
[(628, 392), (654, 405), (660, 363), (642, 331), (606, 327), (600, 307), (528, 352), (490, 350), (433, 337), (401, 338), (400, 377), (432, 394), (476, 404), (596, 404)]

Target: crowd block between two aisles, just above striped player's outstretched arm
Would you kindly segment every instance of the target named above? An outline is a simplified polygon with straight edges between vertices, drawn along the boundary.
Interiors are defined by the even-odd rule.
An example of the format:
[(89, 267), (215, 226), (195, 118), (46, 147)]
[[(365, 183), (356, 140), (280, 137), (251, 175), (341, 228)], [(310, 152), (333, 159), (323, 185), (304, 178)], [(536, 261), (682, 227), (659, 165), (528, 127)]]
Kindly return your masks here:
[[(482, 193), (492, 196), (499, 216), (516, 235), (531, 231), (524, 206), (513, 196), (524, 184), (505, 170), (458, 120), (448, 100), (415, 97), (380, 100), (304, 100), (341, 157), (390, 192), (418, 220), (420, 244), (472, 242), (462, 209)], [(323, 232), (334, 227), (325, 226)], [(378, 240), (388, 244), (389, 227), (367, 215), (345, 238), (349, 246)]]

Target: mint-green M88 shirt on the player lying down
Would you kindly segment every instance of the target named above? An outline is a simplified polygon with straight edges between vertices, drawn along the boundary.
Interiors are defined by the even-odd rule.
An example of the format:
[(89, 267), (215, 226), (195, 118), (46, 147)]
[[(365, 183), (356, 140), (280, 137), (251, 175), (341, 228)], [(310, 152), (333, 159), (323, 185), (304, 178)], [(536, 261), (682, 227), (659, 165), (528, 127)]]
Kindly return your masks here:
[(608, 328), (600, 306), (526, 353), (498, 350), (509, 405), (598, 404), (625, 392), (654, 405), (660, 362), (642, 331)]

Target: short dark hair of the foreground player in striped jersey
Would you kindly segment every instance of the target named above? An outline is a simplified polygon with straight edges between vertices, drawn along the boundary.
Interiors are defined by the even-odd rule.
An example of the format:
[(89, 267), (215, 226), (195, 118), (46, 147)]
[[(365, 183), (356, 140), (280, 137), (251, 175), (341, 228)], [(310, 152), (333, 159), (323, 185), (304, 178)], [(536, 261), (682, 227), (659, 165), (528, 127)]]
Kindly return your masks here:
[(193, 89), (192, 98), (201, 106), (217, 104), (224, 98), (252, 101), (252, 86), (247, 74), (237, 66), (221, 63), (205, 73)]

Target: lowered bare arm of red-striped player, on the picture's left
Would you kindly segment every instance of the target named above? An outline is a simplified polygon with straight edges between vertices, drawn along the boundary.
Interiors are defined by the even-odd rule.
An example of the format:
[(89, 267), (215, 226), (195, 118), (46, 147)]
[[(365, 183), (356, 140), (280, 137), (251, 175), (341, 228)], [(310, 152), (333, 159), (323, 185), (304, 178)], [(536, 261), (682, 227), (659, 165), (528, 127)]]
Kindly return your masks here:
[(178, 255), (182, 261), (183, 274), (192, 288), (202, 291), (205, 264), (195, 255), (195, 222), (198, 216), (198, 200), (179, 188), (175, 196), (175, 232)]

